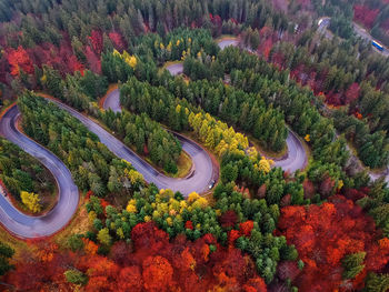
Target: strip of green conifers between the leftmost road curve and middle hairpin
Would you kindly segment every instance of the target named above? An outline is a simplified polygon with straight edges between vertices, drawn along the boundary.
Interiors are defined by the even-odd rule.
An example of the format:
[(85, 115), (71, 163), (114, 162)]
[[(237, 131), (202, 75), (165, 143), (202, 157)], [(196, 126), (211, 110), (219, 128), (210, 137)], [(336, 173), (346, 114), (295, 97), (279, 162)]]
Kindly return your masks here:
[(18, 99), (18, 107), (26, 133), (67, 164), (80, 190), (104, 197), (113, 191), (130, 192), (143, 184), (140, 173), (114, 158), (92, 132), (52, 102), (26, 92)]

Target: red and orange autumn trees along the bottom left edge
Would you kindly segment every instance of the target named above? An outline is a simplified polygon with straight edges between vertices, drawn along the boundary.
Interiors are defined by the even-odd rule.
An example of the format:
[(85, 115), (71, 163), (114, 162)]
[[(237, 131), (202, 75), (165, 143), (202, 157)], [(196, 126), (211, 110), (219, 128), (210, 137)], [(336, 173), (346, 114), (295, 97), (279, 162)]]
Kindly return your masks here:
[[(250, 233), (251, 225), (240, 224), (241, 232)], [(108, 256), (97, 254), (97, 245), (87, 239), (77, 253), (40, 243), (38, 255), (19, 262), (7, 282), (28, 291), (73, 291), (63, 274), (72, 269), (88, 276), (86, 292), (267, 291), (250, 256), (219, 245), (211, 234), (194, 242), (184, 235), (169, 241), (164, 231), (148, 222), (136, 225), (131, 239), (132, 244), (116, 242)]]

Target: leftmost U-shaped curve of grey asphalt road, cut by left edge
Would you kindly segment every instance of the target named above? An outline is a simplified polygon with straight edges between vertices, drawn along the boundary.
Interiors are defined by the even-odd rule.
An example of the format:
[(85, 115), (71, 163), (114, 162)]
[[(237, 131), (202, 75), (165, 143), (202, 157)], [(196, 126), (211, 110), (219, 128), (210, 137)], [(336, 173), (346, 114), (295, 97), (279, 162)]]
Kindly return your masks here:
[(79, 191), (68, 168), (53, 153), (27, 138), (16, 128), (19, 115), (13, 105), (0, 120), (0, 134), (38, 159), (54, 177), (59, 199), (56, 207), (42, 217), (29, 217), (19, 212), (3, 195), (0, 195), (0, 222), (11, 233), (24, 239), (48, 236), (64, 226), (77, 210)]

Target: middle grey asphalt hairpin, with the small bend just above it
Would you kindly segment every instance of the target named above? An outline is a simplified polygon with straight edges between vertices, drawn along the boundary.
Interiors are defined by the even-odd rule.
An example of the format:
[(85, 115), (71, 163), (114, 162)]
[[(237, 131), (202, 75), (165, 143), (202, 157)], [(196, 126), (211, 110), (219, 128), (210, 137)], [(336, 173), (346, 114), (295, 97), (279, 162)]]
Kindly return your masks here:
[[(106, 100), (106, 105), (118, 104), (118, 101), (110, 101), (110, 99), (119, 100), (119, 90), (112, 91), (107, 99), (109, 101)], [(143, 174), (147, 182), (153, 182), (159, 189), (171, 189), (174, 192), (180, 191), (184, 195), (193, 191), (202, 193), (209, 190), (209, 185), (213, 180), (216, 181), (218, 179), (218, 170), (215, 169), (212, 160), (207, 151), (182, 135), (178, 135), (178, 139), (182, 144), (182, 149), (192, 159), (193, 168), (187, 178), (174, 179), (158, 172), (152, 165), (138, 157), (131, 149), (126, 147), (119, 139), (107, 132), (94, 121), (61, 102), (54, 101), (54, 103), (83, 123), (91, 132), (99, 137), (100, 141), (107, 145), (113, 154), (130, 162), (137, 171)], [(116, 108), (116, 110), (120, 110), (120, 107)]]

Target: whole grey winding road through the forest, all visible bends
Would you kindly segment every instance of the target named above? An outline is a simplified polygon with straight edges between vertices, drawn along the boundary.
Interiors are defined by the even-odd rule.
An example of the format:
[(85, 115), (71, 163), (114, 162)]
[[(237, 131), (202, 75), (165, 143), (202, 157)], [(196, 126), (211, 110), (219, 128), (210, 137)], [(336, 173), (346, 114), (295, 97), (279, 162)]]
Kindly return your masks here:
[[(237, 44), (238, 42), (236, 40), (223, 40), (219, 43), (222, 49), (228, 46)], [(170, 68), (171, 72), (177, 74), (181, 70), (180, 66), (182, 68), (182, 64), (172, 64), (168, 67), (168, 70)], [(120, 111), (119, 95), (119, 90), (110, 92), (104, 100), (103, 108), (110, 108), (116, 112)], [(50, 102), (54, 102), (59, 108), (77, 118), (91, 132), (96, 133), (110, 151), (118, 158), (129, 161), (143, 174), (147, 182), (154, 183), (159, 189), (169, 188), (173, 191), (180, 191), (184, 195), (192, 191), (201, 193), (207, 191), (208, 185), (218, 179), (219, 170), (212, 163), (207, 151), (183, 135), (174, 133), (181, 142), (182, 149), (191, 157), (193, 169), (187, 178), (173, 179), (158, 172), (97, 122), (59, 101), (50, 100)], [(18, 211), (6, 197), (0, 195), (0, 223), (19, 238), (32, 239), (49, 236), (62, 229), (71, 220), (78, 207), (79, 191), (72, 180), (69, 169), (63, 162), (49, 150), (29, 139), (17, 129), (16, 123), (19, 115), (18, 107), (12, 105), (0, 119), (0, 134), (38, 159), (53, 174), (58, 184), (59, 199), (56, 207), (47, 214), (30, 217)], [(307, 154), (300, 140), (292, 132), (289, 132), (287, 143), (288, 155), (277, 161), (276, 165), (289, 171), (303, 168), (307, 161)]]

